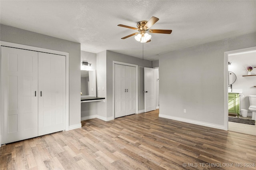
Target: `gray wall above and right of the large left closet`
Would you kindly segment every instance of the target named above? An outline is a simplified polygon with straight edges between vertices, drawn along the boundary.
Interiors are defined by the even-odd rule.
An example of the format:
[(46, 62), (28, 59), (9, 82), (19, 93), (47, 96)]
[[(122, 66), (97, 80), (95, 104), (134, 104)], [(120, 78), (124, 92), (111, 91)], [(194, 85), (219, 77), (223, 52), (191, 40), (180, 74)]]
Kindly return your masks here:
[(69, 126), (81, 123), (80, 43), (0, 25), (0, 40), (69, 53)]

